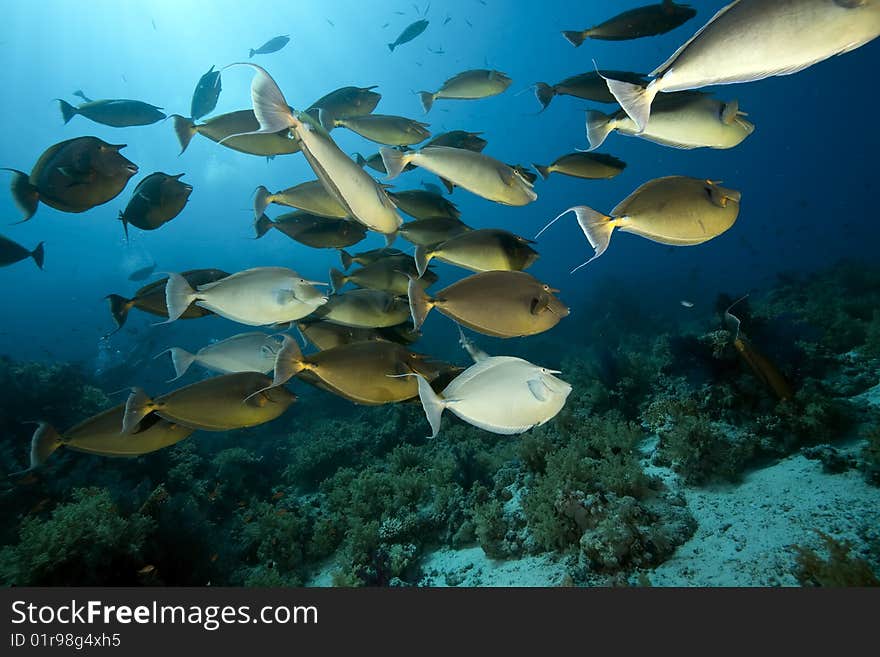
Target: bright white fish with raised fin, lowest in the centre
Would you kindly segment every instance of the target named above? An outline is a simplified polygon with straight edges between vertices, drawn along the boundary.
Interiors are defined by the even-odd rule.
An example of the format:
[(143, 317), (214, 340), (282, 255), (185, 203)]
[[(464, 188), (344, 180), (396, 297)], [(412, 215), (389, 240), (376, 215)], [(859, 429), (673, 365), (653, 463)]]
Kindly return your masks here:
[(487, 356), (465, 342), (474, 364), (440, 394), (419, 374), (419, 398), (431, 438), (440, 433), (440, 416), (449, 409), (468, 424), (502, 435), (525, 433), (550, 421), (565, 406), (571, 385), (556, 370), (515, 358)]

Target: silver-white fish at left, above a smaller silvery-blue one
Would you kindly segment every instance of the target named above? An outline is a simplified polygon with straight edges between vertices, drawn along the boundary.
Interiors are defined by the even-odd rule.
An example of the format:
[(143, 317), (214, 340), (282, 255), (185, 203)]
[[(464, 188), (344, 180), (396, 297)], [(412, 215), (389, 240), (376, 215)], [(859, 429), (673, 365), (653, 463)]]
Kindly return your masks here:
[[(268, 326), (305, 317), (327, 303), (315, 285), (286, 267), (246, 269), (195, 290), (180, 274), (169, 274), (165, 284), (168, 322), (180, 317), (190, 304), (250, 326)], [(167, 323), (167, 322), (162, 322)]]

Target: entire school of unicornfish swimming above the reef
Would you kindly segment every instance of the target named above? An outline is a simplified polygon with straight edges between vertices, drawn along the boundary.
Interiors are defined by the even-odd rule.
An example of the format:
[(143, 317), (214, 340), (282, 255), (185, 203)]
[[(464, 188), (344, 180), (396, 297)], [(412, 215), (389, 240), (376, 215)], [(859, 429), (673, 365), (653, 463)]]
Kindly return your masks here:
[[(639, 7), (584, 30), (565, 31), (575, 47), (585, 39), (625, 40), (666, 33), (694, 17), (695, 11), (671, 0)], [(448, 22), (447, 18), (447, 22)], [(417, 38), (427, 20), (408, 26), (395, 48)], [(787, 75), (848, 52), (880, 35), (880, 0), (737, 0), (721, 9), (669, 59), (644, 77), (625, 71), (595, 70), (557, 84), (538, 82), (543, 108), (556, 95), (597, 103), (618, 103), (611, 114), (590, 110), (587, 149), (534, 165), (543, 179), (551, 173), (585, 179), (611, 178), (626, 164), (592, 152), (612, 132), (682, 149), (735, 147), (754, 126), (736, 100), (719, 100), (703, 87)], [(250, 50), (250, 56), (285, 47), (278, 36)], [(279, 156), (302, 153), (315, 174), (277, 192), (264, 186), (254, 197), (256, 236), (276, 229), (310, 248), (338, 249), (342, 268), (328, 282), (307, 280), (284, 267), (257, 267), (229, 273), (196, 269), (168, 274), (130, 299), (107, 297), (118, 327), (132, 308), (167, 318), (165, 322), (216, 314), (250, 327), (213, 342), (196, 353), (170, 347), (175, 379), (197, 364), (219, 375), (150, 397), (133, 388), (124, 404), (107, 409), (63, 432), (39, 423), (31, 443), (30, 467), (40, 466), (56, 449), (135, 456), (172, 445), (196, 430), (227, 431), (268, 422), (296, 397), (284, 384), (293, 377), (359, 404), (388, 404), (418, 398), (432, 436), (448, 409), (465, 422), (498, 434), (519, 434), (544, 424), (563, 408), (571, 386), (557, 371), (512, 356), (490, 356), (461, 333), (473, 364), (462, 369), (409, 346), (425, 318), (438, 310), (477, 333), (501, 338), (547, 331), (569, 311), (558, 290), (526, 273), (538, 258), (534, 242), (503, 229), (464, 223), (456, 206), (437, 186), (390, 191), (385, 181), (415, 167), (436, 174), (447, 189), (460, 187), (510, 206), (537, 198), (537, 175), (520, 164), (483, 153), (487, 142), (476, 132), (453, 130), (432, 136), (414, 119), (376, 114), (381, 95), (375, 87), (343, 87), (303, 110), (270, 73), (253, 63), (252, 107), (209, 115), (221, 91), (221, 70), (199, 80), (189, 117), (172, 115), (185, 150), (196, 135), (236, 151)], [(511, 84), (500, 71), (458, 73), (437, 91), (420, 92), (427, 114), (435, 102), (480, 99), (503, 93)], [(296, 90), (288, 90), (290, 100)], [(134, 100), (91, 100), (74, 106), (60, 100), (67, 123), (80, 115), (115, 127), (147, 125), (166, 118), (158, 107)], [(543, 111), (543, 110), (542, 110)], [(354, 158), (336, 145), (331, 131), (341, 127), (380, 145), (378, 153)], [(416, 144), (423, 145), (412, 148)], [(123, 145), (83, 136), (49, 147), (30, 174), (15, 169), (11, 191), (31, 219), (43, 203), (61, 212), (80, 213), (116, 198), (138, 167), (122, 155)], [(183, 174), (153, 172), (135, 187), (119, 218), (130, 227), (156, 230), (186, 206), (192, 187)], [(592, 248), (579, 269), (601, 256), (615, 229), (667, 245), (689, 246), (711, 240), (733, 226), (739, 191), (704, 179), (668, 175), (649, 180), (610, 213), (575, 205), (545, 226), (573, 212)], [(270, 219), (272, 204), (294, 208)], [(412, 217), (404, 221), (401, 213)], [(385, 248), (352, 254), (346, 249), (373, 231)], [(414, 254), (392, 248), (397, 236), (414, 245)], [(536, 236), (536, 238), (537, 238)], [(0, 237), (0, 265), (33, 258), (42, 268), (43, 244), (29, 250)], [(474, 272), (439, 292), (430, 262), (437, 259)], [(354, 264), (358, 269), (351, 269)], [(347, 272), (347, 273), (346, 273)], [(347, 285), (353, 289), (345, 290)], [(684, 302), (683, 302), (684, 303)], [(164, 323), (164, 322), (163, 322)], [(296, 328), (317, 351), (304, 355), (297, 340), (282, 332)]]

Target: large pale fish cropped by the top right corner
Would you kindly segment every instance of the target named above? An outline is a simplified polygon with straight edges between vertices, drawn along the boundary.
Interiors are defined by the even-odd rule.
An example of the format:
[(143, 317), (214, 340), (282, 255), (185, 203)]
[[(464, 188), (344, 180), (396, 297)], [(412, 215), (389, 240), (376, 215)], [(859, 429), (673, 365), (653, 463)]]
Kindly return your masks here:
[(655, 69), (647, 87), (608, 79), (641, 131), (658, 93), (790, 75), (880, 36), (880, 0), (735, 0)]

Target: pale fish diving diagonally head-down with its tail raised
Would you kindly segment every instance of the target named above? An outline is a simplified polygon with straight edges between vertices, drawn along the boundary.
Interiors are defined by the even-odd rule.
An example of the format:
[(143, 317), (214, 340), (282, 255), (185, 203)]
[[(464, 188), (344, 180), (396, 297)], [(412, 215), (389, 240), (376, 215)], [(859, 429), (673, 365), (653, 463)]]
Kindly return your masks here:
[(346, 214), (370, 230), (389, 235), (389, 241), (393, 239), (403, 219), (397, 214), (397, 208), (382, 186), (340, 150), (329, 133), (309, 114), (294, 113), (281, 89), (264, 68), (248, 63), (237, 65), (256, 70), (251, 82), (251, 98), (260, 128), (250, 134), (289, 130), (299, 139), (303, 155), (318, 180), (345, 209)]

